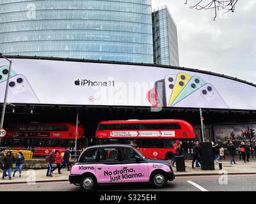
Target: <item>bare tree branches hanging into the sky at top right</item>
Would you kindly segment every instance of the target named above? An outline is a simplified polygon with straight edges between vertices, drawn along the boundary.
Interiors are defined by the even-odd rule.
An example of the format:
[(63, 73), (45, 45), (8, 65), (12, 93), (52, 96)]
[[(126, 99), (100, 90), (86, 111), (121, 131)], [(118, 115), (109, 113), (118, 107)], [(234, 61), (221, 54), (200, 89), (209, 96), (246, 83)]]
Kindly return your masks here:
[[(235, 11), (236, 4), (238, 0), (198, 0), (198, 3), (196, 3), (194, 6), (190, 6), (190, 8), (193, 8), (195, 10), (214, 10), (214, 17), (212, 20), (216, 20), (217, 13), (219, 10), (226, 10), (227, 12)], [(185, 4), (188, 4), (189, 0), (185, 1)]]

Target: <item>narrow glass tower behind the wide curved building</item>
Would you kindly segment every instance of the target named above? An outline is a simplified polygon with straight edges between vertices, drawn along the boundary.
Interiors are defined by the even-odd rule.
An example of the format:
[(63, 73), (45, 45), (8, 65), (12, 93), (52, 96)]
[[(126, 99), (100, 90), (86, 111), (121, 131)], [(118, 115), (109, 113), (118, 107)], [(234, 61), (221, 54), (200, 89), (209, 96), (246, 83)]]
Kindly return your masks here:
[(167, 6), (152, 13), (154, 64), (179, 66), (177, 26)]

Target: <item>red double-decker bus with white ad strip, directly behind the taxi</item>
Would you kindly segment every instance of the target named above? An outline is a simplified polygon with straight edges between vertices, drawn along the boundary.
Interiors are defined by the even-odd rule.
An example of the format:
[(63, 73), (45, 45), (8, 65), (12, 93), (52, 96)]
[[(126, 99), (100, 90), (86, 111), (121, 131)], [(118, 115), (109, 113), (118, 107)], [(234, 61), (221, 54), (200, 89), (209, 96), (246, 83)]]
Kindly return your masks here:
[(184, 156), (190, 157), (195, 131), (184, 120), (116, 120), (100, 122), (95, 138), (97, 144), (132, 140), (150, 159), (172, 159), (175, 140), (182, 142)]

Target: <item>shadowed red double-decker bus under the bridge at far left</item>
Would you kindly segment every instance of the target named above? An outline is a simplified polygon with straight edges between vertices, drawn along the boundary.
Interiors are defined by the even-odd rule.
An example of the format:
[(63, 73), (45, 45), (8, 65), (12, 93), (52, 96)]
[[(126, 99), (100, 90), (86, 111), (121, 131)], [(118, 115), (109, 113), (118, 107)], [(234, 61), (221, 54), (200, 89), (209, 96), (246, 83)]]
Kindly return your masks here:
[[(2, 147), (14, 149), (32, 149), (35, 156), (45, 156), (52, 149), (74, 149), (76, 142), (76, 124), (28, 123), (8, 124)], [(77, 149), (86, 142), (83, 126), (77, 128)]]

